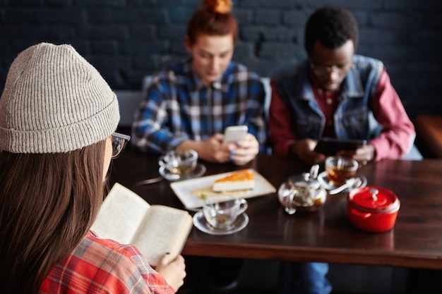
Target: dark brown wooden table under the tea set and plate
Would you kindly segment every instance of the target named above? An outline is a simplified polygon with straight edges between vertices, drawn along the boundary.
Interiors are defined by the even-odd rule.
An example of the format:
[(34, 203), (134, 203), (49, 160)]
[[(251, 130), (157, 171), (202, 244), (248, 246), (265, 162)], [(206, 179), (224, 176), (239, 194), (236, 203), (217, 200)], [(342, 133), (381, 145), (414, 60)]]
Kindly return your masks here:
[[(205, 176), (256, 169), (275, 188), (288, 176), (309, 171), (305, 164), (275, 155), (260, 155), (241, 168), (202, 163)], [(167, 180), (133, 187), (138, 180), (158, 176), (157, 167), (157, 157), (126, 149), (114, 161), (110, 182), (126, 185), (150, 204), (184, 208)], [(345, 193), (328, 195), (318, 212), (294, 215), (284, 212), (273, 193), (249, 199), (250, 221), (238, 233), (208, 235), (194, 227), (183, 254), (442, 269), (442, 160), (384, 160), (359, 173), (369, 185), (398, 195), (401, 207), (393, 230), (366, 233), (351, 226)]]

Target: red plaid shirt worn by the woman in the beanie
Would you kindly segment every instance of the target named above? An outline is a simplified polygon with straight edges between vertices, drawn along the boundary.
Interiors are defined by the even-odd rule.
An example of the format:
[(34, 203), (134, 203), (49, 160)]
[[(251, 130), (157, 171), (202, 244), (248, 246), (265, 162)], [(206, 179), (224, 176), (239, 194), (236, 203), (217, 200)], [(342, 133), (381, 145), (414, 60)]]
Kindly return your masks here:
[(89, 232), (80, 245), (49, 272), (40, 293), (174, 293), (132, 245)]

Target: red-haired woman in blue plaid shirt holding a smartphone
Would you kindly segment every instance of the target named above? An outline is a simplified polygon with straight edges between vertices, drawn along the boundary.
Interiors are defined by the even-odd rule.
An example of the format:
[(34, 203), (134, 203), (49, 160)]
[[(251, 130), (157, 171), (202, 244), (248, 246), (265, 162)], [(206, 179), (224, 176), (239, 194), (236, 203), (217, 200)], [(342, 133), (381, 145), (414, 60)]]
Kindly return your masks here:
[[(264, 151), (264, 87), (232, 62), (238, 24), (230, 0), (205, 0), (189, 20), (190, 58), (154, 75), (132, 125), (133, 145), (153, 154), (194, 149), (206, 161), (242, 165)], [(244, 140), (223, 144), (229, 125), (247, 125)]]

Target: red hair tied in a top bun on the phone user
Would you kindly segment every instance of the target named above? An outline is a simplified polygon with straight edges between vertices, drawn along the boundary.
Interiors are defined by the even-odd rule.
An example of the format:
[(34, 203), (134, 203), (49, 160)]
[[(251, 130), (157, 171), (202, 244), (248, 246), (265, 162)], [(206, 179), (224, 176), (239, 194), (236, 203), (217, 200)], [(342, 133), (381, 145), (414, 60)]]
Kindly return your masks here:
[(187, 24), (187, 37), (195, 44), (198, 35), (225, 36), (232, 34), (234, 44), (238, 37), (238, 23), (230, 11), (231, 0), (203, 0), (203, 7), (193, 13)]

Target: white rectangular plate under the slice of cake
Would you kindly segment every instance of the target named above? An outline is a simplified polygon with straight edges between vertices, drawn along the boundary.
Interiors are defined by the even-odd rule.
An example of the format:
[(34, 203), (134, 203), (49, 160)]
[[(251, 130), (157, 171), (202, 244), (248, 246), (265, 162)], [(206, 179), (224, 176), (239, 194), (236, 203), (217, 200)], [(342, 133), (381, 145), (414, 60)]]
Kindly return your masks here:
[[(263, 176), (261, 176), (258, 171), (255, 171), (254, 169), (249, 169), (249, 171), (253, 173), (253, 177), (255, 178), (255, 188), (244, 193), (235, 194), (236, 197), (250, 198), (276, 192), (275, 187), (270, 184), (268, 180), (266, 180)], [(217, 180), (218, 178), (223, 178), (229, 173), (218, 173), (213, 176), (193, 178), (191, 180), (180, 180), (178, 182), (170, 183), (170, 187), (172, 188), (172, 190), (174, 190), (179, 200), (181, 200), (181, 202), (184, 204), (184, 207), (186, 207), (187, 209), (202, 207), (203, 199), (196, 195), (193, 195), (192, 191), (211, 187), (213, 183), (215, 183), (215, 180)]]

